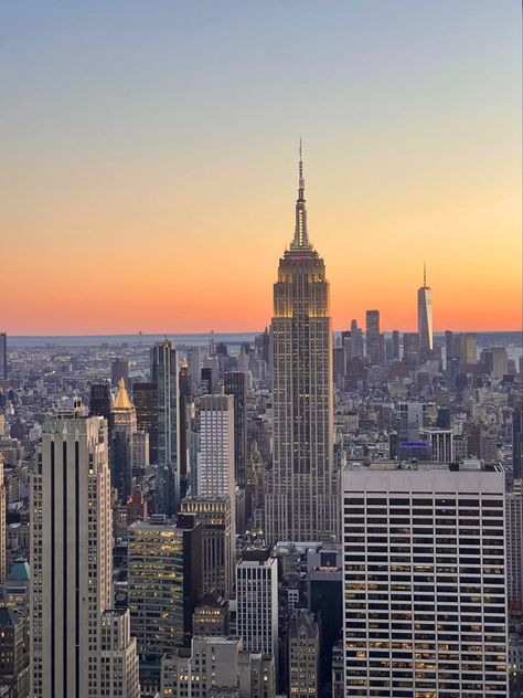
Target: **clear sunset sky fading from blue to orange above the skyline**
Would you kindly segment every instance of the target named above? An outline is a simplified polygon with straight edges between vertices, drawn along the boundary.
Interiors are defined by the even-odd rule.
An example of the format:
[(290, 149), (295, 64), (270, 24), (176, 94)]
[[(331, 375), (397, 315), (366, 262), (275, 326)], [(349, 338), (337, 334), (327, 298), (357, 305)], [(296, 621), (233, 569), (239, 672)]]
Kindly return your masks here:
[(0, 0), (0, 331), (270, 321), (303, 139), (335, 329), (521, 327), (517, 0)]

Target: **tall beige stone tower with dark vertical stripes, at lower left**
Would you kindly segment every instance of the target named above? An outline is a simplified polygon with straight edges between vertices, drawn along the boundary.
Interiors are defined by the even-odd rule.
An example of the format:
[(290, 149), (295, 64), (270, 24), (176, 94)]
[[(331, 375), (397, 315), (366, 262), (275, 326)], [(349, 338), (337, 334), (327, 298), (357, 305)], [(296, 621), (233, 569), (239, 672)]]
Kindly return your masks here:
[[(107, 695), (100, 683), (102, 618), (113, 596), (107, 422), (83, 417), (77, 408), (45, 423), (31, 475), (32, 698)], [(125, 649), (126, 696), (138, 698), (136, 647), (129, 641)]]

